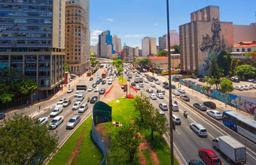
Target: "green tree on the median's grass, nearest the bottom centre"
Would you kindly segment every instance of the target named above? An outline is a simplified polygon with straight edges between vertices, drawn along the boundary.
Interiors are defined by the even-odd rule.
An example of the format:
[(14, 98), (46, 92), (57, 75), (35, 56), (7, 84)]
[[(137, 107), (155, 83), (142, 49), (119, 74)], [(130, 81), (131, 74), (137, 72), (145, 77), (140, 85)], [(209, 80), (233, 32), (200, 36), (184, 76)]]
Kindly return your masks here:
[(111, 138), (111, 151), (122, 151), (123, 149), (129, 153), (130, 161), (133, 162), (134, 155), (139, 147), (139, 129), (134, 124), (120, 127), (117, 133)]

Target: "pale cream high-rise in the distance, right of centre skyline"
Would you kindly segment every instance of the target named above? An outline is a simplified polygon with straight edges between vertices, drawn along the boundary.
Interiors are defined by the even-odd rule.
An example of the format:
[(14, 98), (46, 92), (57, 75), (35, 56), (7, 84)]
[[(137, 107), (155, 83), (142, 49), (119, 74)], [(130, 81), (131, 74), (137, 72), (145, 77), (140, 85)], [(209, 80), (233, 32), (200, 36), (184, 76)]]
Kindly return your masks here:
[(148, 57), (148, 55), (157, 54), (157, 43), (155, 37), (144, 37), (142, 39), (142, 56)]

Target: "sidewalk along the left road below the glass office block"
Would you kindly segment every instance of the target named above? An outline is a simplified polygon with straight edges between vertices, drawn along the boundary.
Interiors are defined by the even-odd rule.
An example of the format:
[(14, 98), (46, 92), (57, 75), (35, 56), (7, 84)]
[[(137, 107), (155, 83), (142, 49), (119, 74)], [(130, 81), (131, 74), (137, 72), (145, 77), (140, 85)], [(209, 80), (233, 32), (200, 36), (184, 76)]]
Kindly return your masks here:
[[(72, 82), (70, 83), (70, 88), (75, 88), (75, 85), (78, 84), (80, 82), (80, 80), (72, 80)], [(66, 94), (66, 92), (69, 89), (69, 85), (65, 87), (63, 87), (63, 91), (59, 90), (59, 92), (56, 92), (56, 94), (52, 94), (49, 95), (48, 98), (41, 98), (40, 101), (34, 101), (32, 104), (29, 105), (29, 107), (26, 106), (26, 104), (17, 106), (17, 107), (12, 107), (12, 108), (8, 108), (6, 110), (2, 110), (1, 113), (5, 113), (5, 115), (7, 115), (8, 113), (14, 113), (17, 112), (19, 110), (25, 110), (26, 108), (30, 108), (39, 104), (43, 104), (46, 103), (47, 101), (52, 101), (55, 98), (58, 98), (59, 96), (62, 96), (64, 94)]]

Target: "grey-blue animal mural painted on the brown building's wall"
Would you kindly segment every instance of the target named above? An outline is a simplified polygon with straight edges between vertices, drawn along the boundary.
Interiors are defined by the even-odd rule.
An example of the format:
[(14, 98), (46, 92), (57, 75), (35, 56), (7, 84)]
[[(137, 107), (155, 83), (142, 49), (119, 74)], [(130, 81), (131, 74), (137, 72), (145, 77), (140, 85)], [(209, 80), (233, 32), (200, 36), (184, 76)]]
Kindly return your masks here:
[(202, 52), (206, 51), (208, 53), (208, 57), (203, 58), (203, 71), (209, 71), (212, 58), (215, 58), (217, 61), (218, 55), (221, 53), (221, 50), (226, 46), (225, 43), (221, 44), (221, 37), (218, 34), (219, 31), (221, 31), (221, 24), (218, 18), (212, 18), (211, 31), (213, 32), (212, 37), (210, 37), (209, 34), (206, 34), (206, 36), (203, 35), (203, 42), (200, 45), (200, 50)]

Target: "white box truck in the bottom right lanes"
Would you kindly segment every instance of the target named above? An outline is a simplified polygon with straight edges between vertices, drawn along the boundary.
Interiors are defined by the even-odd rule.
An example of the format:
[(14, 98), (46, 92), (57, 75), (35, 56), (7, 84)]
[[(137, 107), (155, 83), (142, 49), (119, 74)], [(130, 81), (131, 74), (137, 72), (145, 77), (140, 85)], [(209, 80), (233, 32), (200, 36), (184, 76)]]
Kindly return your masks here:
[(246, 163), (245, 145), (242, 145), (230, 136), (218, 136), (212, 139), (212, 147), (215, 148), (216, 151), (219, 150), (225, 154), (228, 161), (232, 160), (237, 164)]

